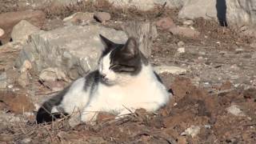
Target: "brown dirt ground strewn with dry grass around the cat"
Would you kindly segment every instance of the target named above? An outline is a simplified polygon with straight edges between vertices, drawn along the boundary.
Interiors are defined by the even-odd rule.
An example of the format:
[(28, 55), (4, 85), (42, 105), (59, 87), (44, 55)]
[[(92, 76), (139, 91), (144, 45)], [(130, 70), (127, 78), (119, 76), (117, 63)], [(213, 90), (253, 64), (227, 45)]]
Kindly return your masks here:
[[(140, 12), (102, 4), (46, 11), (47, 18), (54, 20), (78, 10), (109, 12), (112, 19), (106, 26), (116, 29), (117, 21), (156, 22), (164, 17), (173, 18), (176, 25), (182, 24), (177, 18), (178, 10), (161, 8)], [(170, 103), (155, 113), (137, 110), (118, 120), (113, 115), (100, 114), (95, 126), (70, 127), (65, 120), (47, 126), (35, 124), (34, 114), (24, 111), (34, 113), (30, 102), (52, 95), (51, 91), (38, 82), (37, 74), (31, 74), (33, 80), (27, 88), (18, 86), (18, 72), (13, 67), (20, 49), (12, 45), (0, 47), (0, 70), (12, 75), (10, 81), (19, 88), (14, 92), (0, 91), (0, 117), (6, 117), (6, 121), (0, 122), (0, 143), (256, 143), (256, 50), (250, 46), (254, 38), (202, 18), (196, 19), (193, 26), (200, 32), (198, 38), (184, 38), (158, 29), (152, 46), (153, 65), (187, 70), (183, 75), (160, 75), (174, 93)], [(183, 54), (177, 52), (181, 41), (185, 43)], [(32, 86), (37, 89), (34, 94)], [(27, 95), (30, 102), (24, 100), (26, 107), (18, 107), (20, 101), (15, 98)], [(232, 106), (240, 110), (238, 115), (228, 112)]]

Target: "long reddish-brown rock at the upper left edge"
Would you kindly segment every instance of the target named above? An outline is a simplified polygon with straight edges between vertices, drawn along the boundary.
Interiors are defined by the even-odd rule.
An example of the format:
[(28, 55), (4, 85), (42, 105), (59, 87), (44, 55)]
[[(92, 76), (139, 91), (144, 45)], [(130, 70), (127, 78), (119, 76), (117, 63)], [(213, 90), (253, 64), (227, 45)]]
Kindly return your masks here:
[(41, 10), (25, 10), (0, 14), (0, 19), (0, 27), (5, 30), (5, 34), (0, 40), (6, 43), (10, 41), (10, 33), (18, 22), (26, 20), (32, 25), (41, 28), (45, 22), (46, 14)]

